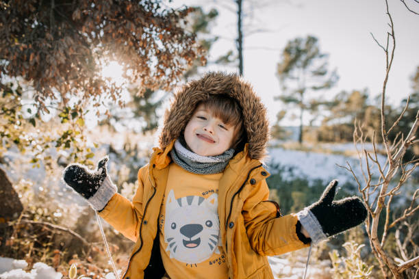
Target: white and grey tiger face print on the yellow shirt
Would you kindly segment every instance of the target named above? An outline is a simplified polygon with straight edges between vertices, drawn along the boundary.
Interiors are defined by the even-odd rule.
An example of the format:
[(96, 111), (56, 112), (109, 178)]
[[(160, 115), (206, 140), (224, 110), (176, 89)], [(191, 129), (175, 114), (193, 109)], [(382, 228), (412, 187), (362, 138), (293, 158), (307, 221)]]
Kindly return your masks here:
[(201, 263), (218, 250), (220, 221), (218, 220), (218, 194), (208, 198), (186, 196), (175, 198), (171, 190), (166, 200), (164, 240), (170, 258), (182, 263)]

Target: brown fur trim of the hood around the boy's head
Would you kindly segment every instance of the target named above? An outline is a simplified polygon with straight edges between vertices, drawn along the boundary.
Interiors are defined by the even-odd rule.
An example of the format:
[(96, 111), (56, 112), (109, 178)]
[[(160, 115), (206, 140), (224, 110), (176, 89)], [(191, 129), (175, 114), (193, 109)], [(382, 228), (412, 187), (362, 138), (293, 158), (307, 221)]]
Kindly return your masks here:
[[(226, 94), (242, 107), (244, 131), (249, 144), (249, 157), (263, 159), (269, 138), (266, 108), (249, 83), (238, 75), (210, 72), (201, 79), (190, 81), (174, 94), (170, 107), (164, 114), (164, 126), (160, 133), (160, 148), (164, 149), (177, 139), (188, 124), (196, 105), (210, 94)], [(240, 151), (240, 150), (236, 150)]]

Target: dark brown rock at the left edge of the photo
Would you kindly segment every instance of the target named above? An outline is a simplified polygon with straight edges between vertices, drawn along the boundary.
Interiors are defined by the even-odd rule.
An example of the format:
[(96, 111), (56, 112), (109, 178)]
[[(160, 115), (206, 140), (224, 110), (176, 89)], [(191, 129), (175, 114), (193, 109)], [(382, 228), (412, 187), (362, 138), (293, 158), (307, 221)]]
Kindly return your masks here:
[(12, 187), (12, 183), (0, 168), (0, 224), (15, 220), (21, 215), (23, 206), (16, 191)]

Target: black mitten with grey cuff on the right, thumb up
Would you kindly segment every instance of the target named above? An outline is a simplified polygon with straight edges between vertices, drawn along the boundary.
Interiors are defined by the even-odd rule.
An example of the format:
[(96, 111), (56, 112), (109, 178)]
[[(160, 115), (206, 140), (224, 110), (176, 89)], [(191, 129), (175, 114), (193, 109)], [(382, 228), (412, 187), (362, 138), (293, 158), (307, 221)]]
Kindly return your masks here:
[(320, 200), (297, 213), (299, 221), (313, 243), (342, 233), (364, 222), (367, 210), (358, 197), (335, 200), (338, 181), (333, 180), (323, 191)]

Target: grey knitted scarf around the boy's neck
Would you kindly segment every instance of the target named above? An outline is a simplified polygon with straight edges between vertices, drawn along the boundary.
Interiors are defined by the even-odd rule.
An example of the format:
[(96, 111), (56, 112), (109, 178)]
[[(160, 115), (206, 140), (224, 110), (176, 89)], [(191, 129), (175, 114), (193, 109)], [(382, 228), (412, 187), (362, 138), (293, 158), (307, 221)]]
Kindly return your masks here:
[[(186, 146), (186, 142), (182, 141)], [(175, 148), (170, 150), (170, 155), (177, 165), (183, 170), (194, 174), (218, 174), (223, 172), (227, 163), (234, 155), (234, 149), (230, 148), (221, 155), (201, 156), (186, 149), (181, 140), (177, 139)]]

